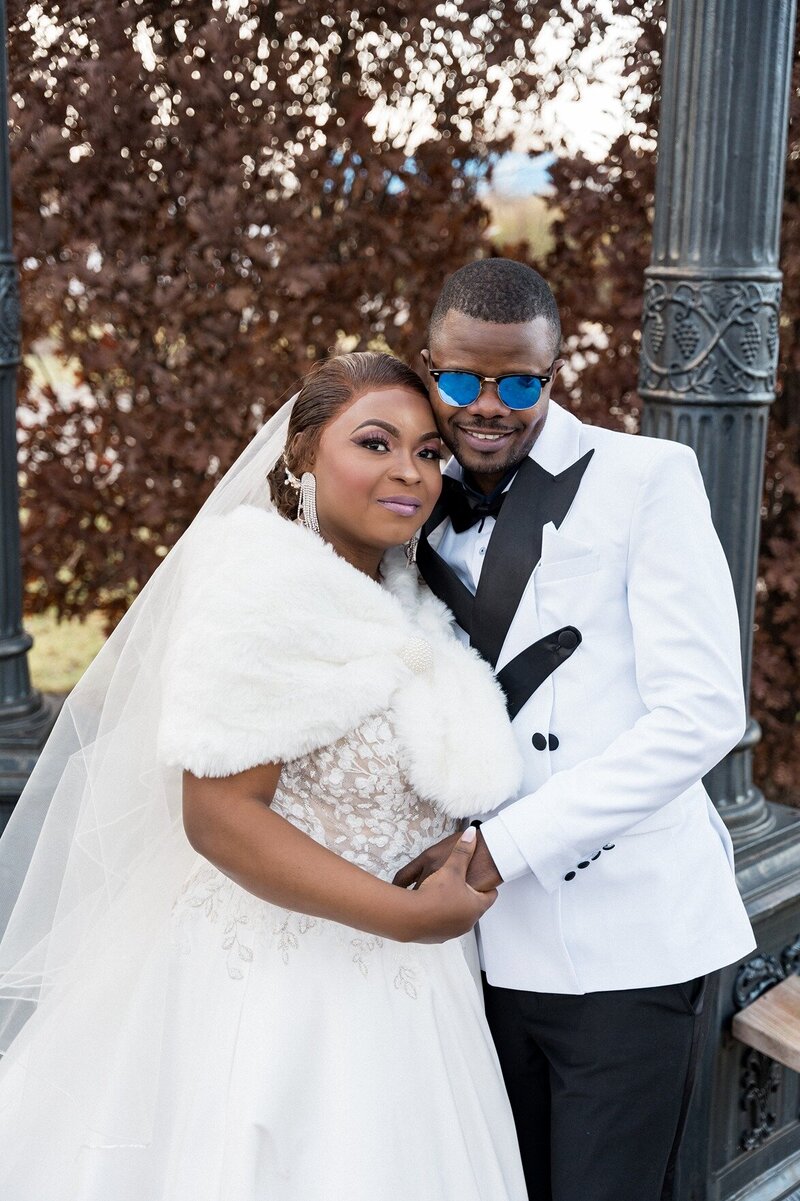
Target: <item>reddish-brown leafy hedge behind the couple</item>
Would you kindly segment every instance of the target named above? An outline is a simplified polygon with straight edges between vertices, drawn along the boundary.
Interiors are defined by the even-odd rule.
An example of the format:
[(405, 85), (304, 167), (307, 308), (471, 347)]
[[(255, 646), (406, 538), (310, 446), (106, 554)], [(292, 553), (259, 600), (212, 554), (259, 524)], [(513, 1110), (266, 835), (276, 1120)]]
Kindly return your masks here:
[[(538, 66), (542, 26), (568, 31), (566, 77), (603, 18), (574, 0), (436, 16), (422, 0), (58, 0), (42, 36), (28, 0), (8, 8), (23, 349), (47, 340), (85, 384), (65, 400), (22, 375), (26, 607), (113, 622), (311, 359), (383, 342), (414, 360), (443, 276), (491, 252), (478, 181), (508, 141), (494, 68), (536, 121), (561, 83)], [(664, 2), (614, 13), (641, 24), (637, 129), (601, 163), (560, 161), (537, 265), (575, 353), (569, 404), (632, 428)], [(753, 668), (759, 778), (783, 799), (800, 767), (799, 106), (800, 79)]]

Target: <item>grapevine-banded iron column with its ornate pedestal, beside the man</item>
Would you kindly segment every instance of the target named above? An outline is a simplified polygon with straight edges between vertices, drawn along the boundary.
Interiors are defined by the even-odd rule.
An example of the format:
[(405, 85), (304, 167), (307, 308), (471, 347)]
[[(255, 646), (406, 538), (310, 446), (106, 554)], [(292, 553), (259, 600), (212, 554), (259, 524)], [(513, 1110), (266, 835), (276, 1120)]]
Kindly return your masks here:
[[(746, 689), (794, 25), (795, 0), (670, 0), (641, 330), (643, 432), (697, 450), (736, 588)], [(800, 1201), (800, 1077), (730, 1035), (736, 1009), (800, 972), (800, 812), (753, 784), (758, 737), (751, 719), (706, 781), (738, 848), (759, 952), (706, 999), (680, 1201)]]

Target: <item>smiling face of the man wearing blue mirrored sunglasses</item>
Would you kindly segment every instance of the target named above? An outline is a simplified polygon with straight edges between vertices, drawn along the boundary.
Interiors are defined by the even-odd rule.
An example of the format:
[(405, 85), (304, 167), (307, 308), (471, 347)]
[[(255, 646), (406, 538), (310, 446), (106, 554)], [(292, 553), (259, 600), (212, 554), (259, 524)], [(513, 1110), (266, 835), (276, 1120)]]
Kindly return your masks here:
[[(490, 491), (521, 462), (542, 432), (553, 378), (561, 366), (554, 330), (544, 317), (498, 325), (452, 309), (423, 351), (428, 389), (442, 440), (476, 483)], [(430, 369), (480, 376), (551, 375), (532, 408), (507, 408), (494, 383), (465, 408), (444, 404)]]

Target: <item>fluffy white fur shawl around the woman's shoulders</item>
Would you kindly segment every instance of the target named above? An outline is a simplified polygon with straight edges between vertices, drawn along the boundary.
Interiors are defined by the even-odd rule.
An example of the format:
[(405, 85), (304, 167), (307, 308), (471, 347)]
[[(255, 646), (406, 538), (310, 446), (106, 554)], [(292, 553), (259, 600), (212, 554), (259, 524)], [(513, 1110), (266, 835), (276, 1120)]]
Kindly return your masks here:
[(440, 809), (484, 813), (515, 794), (500, 687), (402, 551), (386, 556), (378, 585), (310, 531), (241, 506), (199, 525), (183, 554), (163, 761), (228, 776), (390, 712), (407, 779)]

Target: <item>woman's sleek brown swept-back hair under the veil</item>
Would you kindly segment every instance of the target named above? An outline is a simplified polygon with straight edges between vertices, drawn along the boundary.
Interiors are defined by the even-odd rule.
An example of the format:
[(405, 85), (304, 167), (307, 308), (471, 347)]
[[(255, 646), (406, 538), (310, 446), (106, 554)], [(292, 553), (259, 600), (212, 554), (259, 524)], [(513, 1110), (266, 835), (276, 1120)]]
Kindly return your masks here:
[(299, 479), (328, 422), (359, 396), (381, 388), (408, 388), (428, 400), (428, 389), (417, 372), (392, 354), (354, 351), (314, 364), (294, 401), (286, 449), (267, 477), (281, 516), (297, 516), (298, 492), (286, 479), (287, 470)]

